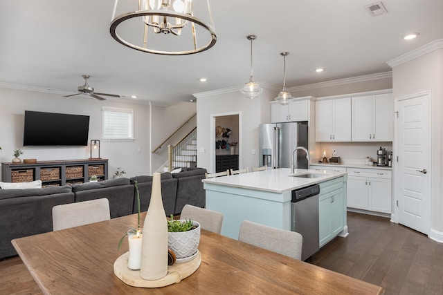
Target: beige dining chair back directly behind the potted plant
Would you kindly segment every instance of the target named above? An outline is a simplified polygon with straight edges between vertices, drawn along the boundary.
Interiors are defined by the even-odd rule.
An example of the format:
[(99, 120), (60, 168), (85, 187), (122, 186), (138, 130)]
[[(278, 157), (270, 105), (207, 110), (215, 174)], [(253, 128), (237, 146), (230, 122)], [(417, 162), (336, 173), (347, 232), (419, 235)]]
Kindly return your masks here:
[(180, 214), (180, 219), (192, 219), (199, 222), (202, 229), (221, 234), (223, 214), (220, 212), (195, 207), (186, 204)]

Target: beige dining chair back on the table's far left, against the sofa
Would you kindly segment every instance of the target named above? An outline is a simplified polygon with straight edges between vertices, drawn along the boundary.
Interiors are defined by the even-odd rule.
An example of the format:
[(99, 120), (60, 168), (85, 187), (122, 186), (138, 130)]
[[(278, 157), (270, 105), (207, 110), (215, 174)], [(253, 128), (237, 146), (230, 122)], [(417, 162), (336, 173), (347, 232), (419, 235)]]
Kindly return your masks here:
[(53, 230), (111, 219), (107, 198), (62, 204), (53, 207)]

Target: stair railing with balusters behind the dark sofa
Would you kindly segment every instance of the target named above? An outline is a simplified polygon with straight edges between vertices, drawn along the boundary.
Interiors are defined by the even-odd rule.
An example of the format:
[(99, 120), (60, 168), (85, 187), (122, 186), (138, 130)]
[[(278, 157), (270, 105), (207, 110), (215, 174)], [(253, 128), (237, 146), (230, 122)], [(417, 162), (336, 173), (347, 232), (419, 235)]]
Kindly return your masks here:
[[(193, 140), (197, 138), (197, 127), (192, 129), (185, 137), (183, 137), (177, 144), (168, 144), (168, 171), (174, 168), (174, 162), (180, 162), (181, 167), (191, 166), (193, 163), (197, 164), (197, 151), (195, 149), (188, 149), (192, 145)], [(196, 148), (197, 149), (197, 148)]]

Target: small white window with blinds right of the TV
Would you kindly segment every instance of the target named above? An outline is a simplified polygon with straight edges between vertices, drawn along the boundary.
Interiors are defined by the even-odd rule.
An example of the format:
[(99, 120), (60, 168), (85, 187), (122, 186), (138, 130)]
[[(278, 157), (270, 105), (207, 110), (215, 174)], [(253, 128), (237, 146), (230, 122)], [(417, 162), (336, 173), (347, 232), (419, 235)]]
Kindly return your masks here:
[(103, 139), (133, 140), (134, 111), (127, 108), (102, 108)]

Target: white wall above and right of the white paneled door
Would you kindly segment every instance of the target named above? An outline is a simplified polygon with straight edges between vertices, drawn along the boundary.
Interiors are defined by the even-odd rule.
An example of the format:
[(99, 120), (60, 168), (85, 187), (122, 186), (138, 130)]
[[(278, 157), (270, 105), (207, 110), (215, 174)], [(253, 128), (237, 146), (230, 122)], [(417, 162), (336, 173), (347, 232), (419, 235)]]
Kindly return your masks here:
[(431, 90), (431, 231), (443, 240), (443, 49), (395, 66), (392, 73), (394, 97)]

